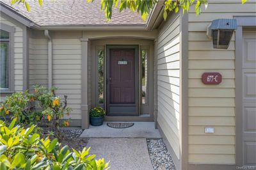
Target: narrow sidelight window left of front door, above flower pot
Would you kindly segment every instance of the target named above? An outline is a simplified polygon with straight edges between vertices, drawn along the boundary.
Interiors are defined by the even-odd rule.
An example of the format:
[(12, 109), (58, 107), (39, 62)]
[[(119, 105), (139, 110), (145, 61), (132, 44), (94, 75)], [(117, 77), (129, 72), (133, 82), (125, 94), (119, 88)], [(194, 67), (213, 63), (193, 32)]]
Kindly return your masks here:
[(104, 103), (104, 50), (98, 50), (98, 104)]

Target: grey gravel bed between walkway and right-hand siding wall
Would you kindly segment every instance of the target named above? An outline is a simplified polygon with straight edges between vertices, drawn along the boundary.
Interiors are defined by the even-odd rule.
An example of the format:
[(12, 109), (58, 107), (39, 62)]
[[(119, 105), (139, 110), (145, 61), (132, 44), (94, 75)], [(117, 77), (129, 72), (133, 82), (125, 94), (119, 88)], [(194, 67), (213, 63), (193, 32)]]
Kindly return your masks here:
[(147, 139), (148, 153), (154, 169), (175, 170), (175, 165), (163, 139)]

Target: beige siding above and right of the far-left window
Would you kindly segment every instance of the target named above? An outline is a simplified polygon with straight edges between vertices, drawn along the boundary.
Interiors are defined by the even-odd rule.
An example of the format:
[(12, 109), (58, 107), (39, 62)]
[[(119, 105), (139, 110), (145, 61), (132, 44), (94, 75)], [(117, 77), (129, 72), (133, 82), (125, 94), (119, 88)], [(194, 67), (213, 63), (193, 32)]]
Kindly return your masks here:
[(0, 17), (0, 22), (15, 27), (14, 33), (14, 90), (23, 90), (23, 30), (9, 19)]

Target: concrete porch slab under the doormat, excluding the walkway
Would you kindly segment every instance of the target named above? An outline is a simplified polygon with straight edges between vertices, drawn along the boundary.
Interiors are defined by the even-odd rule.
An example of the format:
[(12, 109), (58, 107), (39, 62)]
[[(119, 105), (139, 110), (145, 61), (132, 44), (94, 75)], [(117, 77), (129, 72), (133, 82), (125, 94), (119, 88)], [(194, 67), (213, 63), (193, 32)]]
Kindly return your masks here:
[(155, 128), (153, 121), (133, 121), (134, 125), (129, 128), (111, 128), (108, 127), (108, 122), (110, 121), (104, 122), (99, 127), (90, 125), (88, 129), (83, 131), (80, 137), (161, 138), (159, 130)]

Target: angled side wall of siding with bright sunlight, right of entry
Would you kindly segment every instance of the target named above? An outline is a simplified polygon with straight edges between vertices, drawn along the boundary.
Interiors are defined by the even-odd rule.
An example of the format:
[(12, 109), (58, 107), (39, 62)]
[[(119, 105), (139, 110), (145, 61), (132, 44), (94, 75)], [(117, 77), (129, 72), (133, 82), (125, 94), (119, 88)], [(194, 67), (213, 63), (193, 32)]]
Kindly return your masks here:
[(157, 122), (180, 157), (180, 16), (168, 17), (157, 38)]

